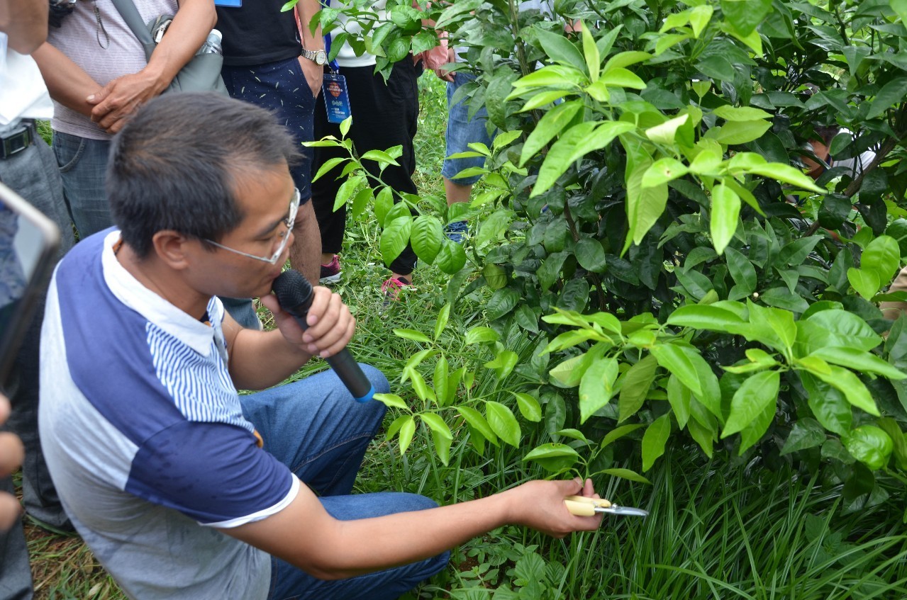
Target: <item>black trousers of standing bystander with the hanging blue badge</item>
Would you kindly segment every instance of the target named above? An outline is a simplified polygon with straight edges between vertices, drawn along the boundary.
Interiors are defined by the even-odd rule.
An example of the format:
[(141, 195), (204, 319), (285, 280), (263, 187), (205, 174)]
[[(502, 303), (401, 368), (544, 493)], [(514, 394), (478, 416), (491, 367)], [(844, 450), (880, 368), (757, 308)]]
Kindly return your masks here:
[[(340, 74), (346, 77), (346, 89), (353, 111), (353, 124), (347, 137), (353, 140), (359, 156), (368, 150), (387, 150), (392, 146), (402, 146), (403, 155), (397, 159), (400, 166), (391, 165), (380, 176), (391, 189), (405, 194), (415, 194), (417, 191), (413, 182), (413, 140), (419, 117), (418, 77), (421, 72), (421, 66), (416, 67), (411, 56), (395, 63), (386, 84), (381, 75), (375, 74), (374, 66), (340, 68)], [(341, 137), (339, 126), (327, 121), (325, 103), (319, 99), (315, 109), (315, 139), (320, 140), (326, 135), (338, 139)], [(327, 160), (345, 156), (345, 151), (336, 148), (316, 148), (312, 173), (317, 173)], [(378, 163), (374, 160), (366, 160), (363, 166), (375, 177), (379, 175)], [(321, 251), (325, 254), (339, 252), (343, 244), (346, 207), (334, 211), (334, 199), (343, 182), (336, 178), (342, 169), (341, 165), (312, 184), (312, 202), (318, 228), (321, 230)], [(373, 183), (369, 181), (369, 184)], [(395, 201), (398, 200), (399, 198), (395, 198)], [(415, 260), (413, 248), (406, 246), (389, 267), (395, 273), (409, 275), (413, 272)]]

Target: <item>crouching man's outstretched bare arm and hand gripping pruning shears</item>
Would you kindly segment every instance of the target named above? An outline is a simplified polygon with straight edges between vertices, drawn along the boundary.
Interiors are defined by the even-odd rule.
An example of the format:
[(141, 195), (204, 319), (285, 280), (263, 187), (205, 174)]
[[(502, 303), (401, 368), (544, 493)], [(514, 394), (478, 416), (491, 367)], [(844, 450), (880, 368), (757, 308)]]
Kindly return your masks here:
[(461, 504), (340, 521), (303, 485), (297, 498), (276, 515), (221, 531), (309, 575), (339, 579), (436, 556), (507, 524), (554, 537), (597, 529), (601, 516), (575, 517), (564, 505), (564, 498), (579, 493), (594, 496), (590, 480), (585, 485), (579, 479), (530, 481)]

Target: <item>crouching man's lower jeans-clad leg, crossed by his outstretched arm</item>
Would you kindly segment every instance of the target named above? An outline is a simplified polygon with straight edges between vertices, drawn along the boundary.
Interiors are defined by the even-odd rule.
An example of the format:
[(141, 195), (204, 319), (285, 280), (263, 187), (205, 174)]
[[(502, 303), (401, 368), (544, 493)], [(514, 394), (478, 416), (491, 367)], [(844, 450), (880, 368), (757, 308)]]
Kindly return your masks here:
[[(332, 496), (322, 498), (327, 512), (339, 520), (381, 517), (399, 512), (410, 512), (434, 508), (437, 505), (429, 498), (416, 494), (379, 493), (356, 496)], [(332, 600), (368, 598), (368, 600), (391, 600), (413, 589), (415, 585), (434, 576), (447, 566), (450, 553), (396, 566), (368, 575), (324, 581), (288, 565), (278, 558), (271, 559), (271, 592), (268, 600), (289, 600), (312, 598)]]

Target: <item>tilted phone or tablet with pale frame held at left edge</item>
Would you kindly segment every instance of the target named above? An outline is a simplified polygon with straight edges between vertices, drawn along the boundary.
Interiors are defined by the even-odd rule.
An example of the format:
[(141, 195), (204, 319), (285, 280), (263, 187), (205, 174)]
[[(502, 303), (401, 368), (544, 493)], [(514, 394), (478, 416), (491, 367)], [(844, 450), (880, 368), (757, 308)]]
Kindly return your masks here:
[(0, 389), (54, 266), (60, 231), (0, 183)]

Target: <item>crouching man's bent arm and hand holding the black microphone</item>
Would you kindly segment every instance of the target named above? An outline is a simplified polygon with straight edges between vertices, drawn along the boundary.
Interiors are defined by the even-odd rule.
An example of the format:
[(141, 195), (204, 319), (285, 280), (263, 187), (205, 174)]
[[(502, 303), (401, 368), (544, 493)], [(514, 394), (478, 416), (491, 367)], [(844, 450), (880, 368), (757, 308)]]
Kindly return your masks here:
[(320, 285), (313, 292), (305, 332), (280, 309), (274, 295), (261, 297), (261, 304), (274, 315), (277, 329), (273, 331), (244, 329), (224, 315), (224, 339), (234, 385), (241, 390), (263, 390), (296, 373), (313, 355), (327, 358), (346, 347), (356, 329), (356, 319), (340, 295)]

